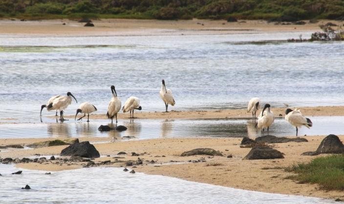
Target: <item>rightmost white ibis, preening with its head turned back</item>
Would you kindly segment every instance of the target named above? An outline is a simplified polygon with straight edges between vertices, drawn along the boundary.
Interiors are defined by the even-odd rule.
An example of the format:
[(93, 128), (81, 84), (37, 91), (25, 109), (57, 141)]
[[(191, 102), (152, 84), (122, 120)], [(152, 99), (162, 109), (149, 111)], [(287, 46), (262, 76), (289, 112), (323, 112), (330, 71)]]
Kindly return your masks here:
[(302, 115), (300, 110), (295, 109), (294, 111), (291, 109), (285, 110), (285, 120), (288, 121), (292, 126), (296, 127), (296, 136), (298, 136), (298, 128), (302, 126), (307, 127), (308, 129), (312, 127), (313, 123), (309, 118), (306, 118)]

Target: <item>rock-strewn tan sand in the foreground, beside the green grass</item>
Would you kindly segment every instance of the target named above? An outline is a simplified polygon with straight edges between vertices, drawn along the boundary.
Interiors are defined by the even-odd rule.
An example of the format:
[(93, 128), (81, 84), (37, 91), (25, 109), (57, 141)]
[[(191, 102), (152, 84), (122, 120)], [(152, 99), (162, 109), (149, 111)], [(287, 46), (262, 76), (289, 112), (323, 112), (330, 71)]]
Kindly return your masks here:
[[(344, 199), (343, 192), (319, 190), (316, 184), (301, 184), (297, 181), (286, 179), (292, 173), (284, 171), (285, 167), (297, 162), (308, 162), (311, 159), (320, 156), (301, 156), (306, 151), (315, 151), (324, 136), (305, 136), (309, 142), (289, 142), (275, 144), (274, 148), (285, 154), (285, 159), (267, 159), (267, 160), (242, 160), (250, 148), (240, 148), (241, 138), (159, 138), (148, 140), (116, 141), (106, 143), (96, 143), (94, 146), (101, 155), (110, 157), (101, 157), (94, 161), (114, 161), (114, 156), (118, 152), (124, 151), (129, 155), (120, 155), (124, 157), (120, 160), (144, 160), (143, 165), (137, 165), (135, 171), (145, 172), (147, 174), (164, 175), (185, 179), (188, 181), (205, 182), (216, 185), (235, 187), (239, 189), (255, 190), (270, 193), (281, 193), (291, 195), (314, 196), (320, 198)], [(344, 136), (340, 136), (343, 140)], [(52, 138), (48, 138), (52, 139)], [(79, 138), (81, 141), (87, 139), (93, 142), (106, 141), (108, 138)], [(30, 144), (39, 140), (47, 139), (0, 139), (0, 145), (7, 144)], [(11, 149), (10, 152), (0, 152), (1, 158), (22, 158), (41, 155), (59, 155), (66, 146), (44, 147), (37, 149)], [(180, 157), (184, 151), (194, 148), (213, 148), (221, 151), (224, 157), (191, 156)], [(131, 152), (137, 154), (147, 153), (139, 157), (131, 156)], [(233, 158), (227, 158), (233, 155)], [(165, 156), (165, 157), (162, 157)], [(205, 162), (189, 162), (204, 158)], [(154, 160), (156, 163), (150, 163), (146, 160)], [(177, 162), (172, 162), (177, 161)], [(207, 164), (219, 163), (219, 166), (206, 166)], [(163, 165), (161, 165), (163, 164)], [(112, 166), (124, 166), (125, 163), (115, 163)], [(59, 165), (59, 164), (38, 164), (38, 163), (20, 163), (17, 167), (59, 171), (73, 168), (80, 168), (80, 164)], [(97, 168), (97, 167), (91, 167)], [(130, 168), (130, 167), (129, 167)], [(268, 168), (268, 169), (262, 169)]]

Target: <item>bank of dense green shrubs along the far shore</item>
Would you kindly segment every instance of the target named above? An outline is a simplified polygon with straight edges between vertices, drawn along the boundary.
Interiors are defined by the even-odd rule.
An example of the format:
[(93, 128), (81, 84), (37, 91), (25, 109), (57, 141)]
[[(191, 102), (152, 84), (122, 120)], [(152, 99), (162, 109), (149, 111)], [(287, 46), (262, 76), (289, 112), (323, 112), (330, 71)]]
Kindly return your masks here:
[(1, 0), (0, 17), (26, 19), (343, 19), (342, 0)]

